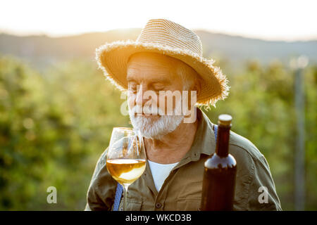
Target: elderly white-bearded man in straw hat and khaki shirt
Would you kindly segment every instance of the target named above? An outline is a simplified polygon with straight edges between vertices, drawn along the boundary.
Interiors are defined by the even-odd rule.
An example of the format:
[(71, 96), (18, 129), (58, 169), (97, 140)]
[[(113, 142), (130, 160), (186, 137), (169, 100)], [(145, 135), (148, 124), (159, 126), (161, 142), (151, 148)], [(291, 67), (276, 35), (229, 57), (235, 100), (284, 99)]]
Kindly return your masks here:
[[(178, 100), (173, 101), (173, 115), (166, 115), (167, 104), (161, 101), (166, 96), (160, 92), (185, 90), (196, 94), (196, 105), (215, 105), (228, 95), (225, 75), (202, 57), (197, 34), (164, 19), (149, 20), (137, 41), (101, 46), (97, 60), (113, 84), (128, 90), (130, 120), (144, 136), (147, 167), (129, 186), (127, 209), (199, 210), (204, 161), (216, 146), (214, 125), (192, 101), (188, 106), (194, 120), (185, 122), (192, 113), (175, 113), (180, 112)], [(256, 146), (231, 131), (229, 151), (237, 160), (234, 210), (281, 210), (268, 163)], [(116, 187), (106, 169), (105, 151), (94, 170), (85, 210), (116, 210), (115, 196), (121, 194)]]

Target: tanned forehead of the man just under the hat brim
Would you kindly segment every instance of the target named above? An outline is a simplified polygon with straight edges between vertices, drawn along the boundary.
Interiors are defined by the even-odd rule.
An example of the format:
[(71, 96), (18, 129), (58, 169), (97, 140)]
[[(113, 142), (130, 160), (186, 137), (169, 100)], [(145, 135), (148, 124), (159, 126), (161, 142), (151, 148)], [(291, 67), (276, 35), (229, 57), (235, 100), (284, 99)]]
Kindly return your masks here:
[(127, 79), (177, 80), (178, 60), (159, 53), (135, 53), (129, 58)]

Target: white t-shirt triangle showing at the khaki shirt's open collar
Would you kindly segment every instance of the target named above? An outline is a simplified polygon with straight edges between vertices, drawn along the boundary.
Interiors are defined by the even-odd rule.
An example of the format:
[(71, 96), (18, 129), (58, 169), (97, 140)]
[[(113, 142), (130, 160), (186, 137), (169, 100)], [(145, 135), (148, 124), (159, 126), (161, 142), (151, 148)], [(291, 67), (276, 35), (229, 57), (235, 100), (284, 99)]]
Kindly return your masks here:
[(165, 179), (168, 177), (170, 171), (175, 167), (175, 165), (178, 165), (178, 162), (172, 164), (161, 164), (150, 160), (147, 161), (149, 162), (155, 188), (157, 191), (160, 191)]

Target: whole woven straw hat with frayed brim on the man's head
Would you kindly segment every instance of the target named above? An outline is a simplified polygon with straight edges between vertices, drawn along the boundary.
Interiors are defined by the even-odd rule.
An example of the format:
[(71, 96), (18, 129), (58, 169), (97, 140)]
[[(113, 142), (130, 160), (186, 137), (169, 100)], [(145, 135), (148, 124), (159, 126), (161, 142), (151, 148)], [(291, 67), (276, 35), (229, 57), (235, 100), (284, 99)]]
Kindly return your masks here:
[(201, 78), (197, 105), (213, 105), (228, 96), (228, 80), (214, 60), (203, 58), (198, 35), (166, 19), (149, 20), (136, 41), (114, 41), (96, 49), (96, 59), (104, 75), (118, 89), (128, 89), (126, 80), (129, 57), (138, 52), (154, 52), (187, 63)]

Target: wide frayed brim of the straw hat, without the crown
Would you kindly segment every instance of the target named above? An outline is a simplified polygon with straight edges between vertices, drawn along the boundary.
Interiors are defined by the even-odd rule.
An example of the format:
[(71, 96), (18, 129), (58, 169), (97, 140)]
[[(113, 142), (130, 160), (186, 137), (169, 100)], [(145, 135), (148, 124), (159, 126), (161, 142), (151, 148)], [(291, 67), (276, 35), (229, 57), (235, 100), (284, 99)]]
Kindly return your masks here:
[(137, 41), (114, 41), (96, 49), (96, 60), (104, 75), (118, 89), (128, 89), (126, 80), (129, 57), (138, 52), (161, 53), (182, 60), (191, 66), (200, 76), (201, 91), (197, 96), (198, 105), (215, 106), (218, 100), (228, 96), (228, 79), (220, 68), (213, 66), (213, 60), (208, 60), (184, 49), (175, 49), (161, 44), (139, 43)]

